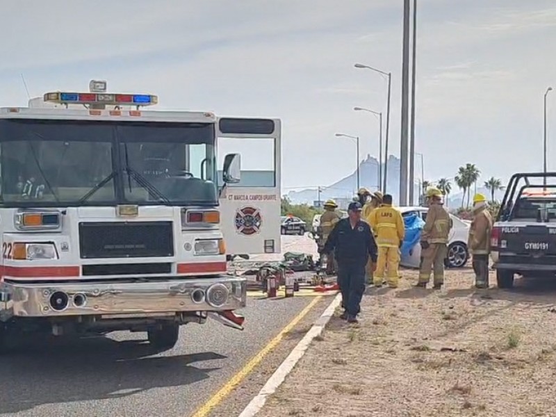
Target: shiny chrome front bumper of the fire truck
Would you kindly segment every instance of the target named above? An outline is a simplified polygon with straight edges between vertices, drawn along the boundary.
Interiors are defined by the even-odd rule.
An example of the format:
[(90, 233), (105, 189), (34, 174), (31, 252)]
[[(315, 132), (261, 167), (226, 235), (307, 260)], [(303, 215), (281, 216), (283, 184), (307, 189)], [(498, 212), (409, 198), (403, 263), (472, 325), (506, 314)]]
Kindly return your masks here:
[(142, 282), (0, 283), (0, 318), (222, 312), (245, 307), (245, 278)]

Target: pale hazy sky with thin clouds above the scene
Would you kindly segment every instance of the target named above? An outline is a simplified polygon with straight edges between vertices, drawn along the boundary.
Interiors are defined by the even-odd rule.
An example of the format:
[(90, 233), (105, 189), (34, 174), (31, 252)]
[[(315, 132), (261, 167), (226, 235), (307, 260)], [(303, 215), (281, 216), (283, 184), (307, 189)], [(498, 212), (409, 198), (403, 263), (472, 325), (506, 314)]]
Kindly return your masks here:
[[(149, 92), (158, 110), (277, 117), (281, 185), (327, 186), (378, 155), (392, 73), (400, 152), (402, 0), (26, 0), (0, 13), (0, 106), (55, 90)], [(543, 95), (556, 88), (553, 0), (418, 0), (416, 152), (425, 179), (475, 163), (486, 180), (542, 169)], [(255, 147), (254, 147), (255, 148)], [(259, 146), (256, 149), (268, 149)], [(242, 163), (255, 163), (247, 150)], [(249, 153), (251, 152), (251, 155)], [(257, 151), (259, 154), (261, 150)], [(556, 170), (556, 91), (548, 167)], [(420, 157), (416, 158), (420, 177)], [(247, 166), (247, 169), (250, 167)]]

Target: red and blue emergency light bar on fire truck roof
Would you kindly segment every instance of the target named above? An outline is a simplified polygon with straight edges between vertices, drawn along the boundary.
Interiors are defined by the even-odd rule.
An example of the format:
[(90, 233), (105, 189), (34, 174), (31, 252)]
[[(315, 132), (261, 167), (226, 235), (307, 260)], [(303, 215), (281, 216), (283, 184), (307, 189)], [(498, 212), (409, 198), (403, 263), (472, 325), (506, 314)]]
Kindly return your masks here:
[(147, 94), (106, 94), (106, 92), (47, 92), (44, 101), (59, 104), (151, 106), (158, 104), (158, 97)]

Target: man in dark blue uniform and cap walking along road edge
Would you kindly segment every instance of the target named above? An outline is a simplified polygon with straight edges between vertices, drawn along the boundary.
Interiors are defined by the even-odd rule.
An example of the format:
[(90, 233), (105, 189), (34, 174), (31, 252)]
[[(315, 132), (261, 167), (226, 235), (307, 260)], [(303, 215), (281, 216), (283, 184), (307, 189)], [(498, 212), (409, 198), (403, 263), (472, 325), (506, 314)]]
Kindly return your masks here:
[(347, 213), (349, 218), (336, 223), (320, 252), (329, 254), (334, 250), (338, 263), (338, 286), (345, 309), (341, 318), (357, 323), (359, 304), (365, 292), (365, 266), (370, 256), (375, 270), (377, 244), (369, 225), (361, 220), (361, 204), (350, 203)]

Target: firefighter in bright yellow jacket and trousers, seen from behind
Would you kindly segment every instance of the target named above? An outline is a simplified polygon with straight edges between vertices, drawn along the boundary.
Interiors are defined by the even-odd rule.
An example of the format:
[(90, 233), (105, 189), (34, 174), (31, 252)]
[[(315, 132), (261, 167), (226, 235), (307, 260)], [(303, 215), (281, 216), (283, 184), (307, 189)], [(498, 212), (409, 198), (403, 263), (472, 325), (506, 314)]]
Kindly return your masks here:
[(382, 204), (370, 213), (369, 222), (378, 247), (374, 284), (376, 287), (382, 286), (384, 272), (386, 272), (386, 282), (389, 287), (397, 288), (400, 247), (404, 240), (405, 226), (402, 213), (392, 206), (391, 195), (386, 194), (382, 197)]

